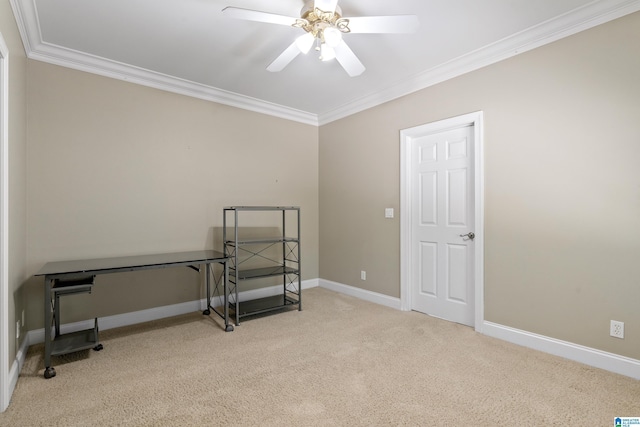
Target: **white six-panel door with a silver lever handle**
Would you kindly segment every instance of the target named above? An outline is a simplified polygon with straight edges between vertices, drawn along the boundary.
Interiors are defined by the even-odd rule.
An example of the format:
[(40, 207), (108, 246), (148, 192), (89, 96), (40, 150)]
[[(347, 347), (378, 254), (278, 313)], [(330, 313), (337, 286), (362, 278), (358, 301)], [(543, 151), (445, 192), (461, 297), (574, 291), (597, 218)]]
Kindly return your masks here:
[(410, 139), (411, 309), (474, 326), (474, 127)]

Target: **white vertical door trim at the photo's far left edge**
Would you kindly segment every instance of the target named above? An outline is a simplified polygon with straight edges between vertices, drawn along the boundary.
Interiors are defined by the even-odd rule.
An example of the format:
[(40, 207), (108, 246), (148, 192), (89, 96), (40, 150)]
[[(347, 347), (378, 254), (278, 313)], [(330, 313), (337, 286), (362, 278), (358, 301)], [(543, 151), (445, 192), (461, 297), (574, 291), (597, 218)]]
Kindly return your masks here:
[(0, 412), (9, 406), (9, 49), (0, 34)]

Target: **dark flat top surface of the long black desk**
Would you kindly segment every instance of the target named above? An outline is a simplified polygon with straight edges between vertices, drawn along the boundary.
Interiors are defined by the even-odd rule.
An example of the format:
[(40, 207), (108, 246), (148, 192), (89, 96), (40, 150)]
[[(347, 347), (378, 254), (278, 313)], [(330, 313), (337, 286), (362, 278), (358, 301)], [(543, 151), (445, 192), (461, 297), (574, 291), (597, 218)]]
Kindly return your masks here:
[(134, 255), (115, 258), (96, 258), (75, 261), (57, 261), (45, 264), (36, 276), (68, 274), (105, 274), (151, 268), (177, 267), (181, 265), (222, 262), (222, 252), (206, 250), (151, 255)]

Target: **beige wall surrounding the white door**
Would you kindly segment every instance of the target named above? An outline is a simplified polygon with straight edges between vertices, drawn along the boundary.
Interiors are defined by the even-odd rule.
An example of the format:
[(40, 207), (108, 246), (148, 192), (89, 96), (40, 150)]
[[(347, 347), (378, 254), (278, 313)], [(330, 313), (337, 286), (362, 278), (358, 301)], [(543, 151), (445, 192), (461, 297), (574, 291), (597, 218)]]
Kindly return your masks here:
[(638, 40), (635, 13), (322, 126), (320, 277), (400, 296), (399, 132), (482, 110), (486, 320), (640, 359)]

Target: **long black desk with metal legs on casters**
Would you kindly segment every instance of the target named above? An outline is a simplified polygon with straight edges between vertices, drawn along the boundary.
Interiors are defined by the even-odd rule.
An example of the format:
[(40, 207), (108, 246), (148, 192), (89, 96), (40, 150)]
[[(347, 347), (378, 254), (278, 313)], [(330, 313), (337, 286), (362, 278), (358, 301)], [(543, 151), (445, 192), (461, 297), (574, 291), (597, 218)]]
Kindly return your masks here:
[[(137, 255), (117, 258), (86, 259), (77, 261), (50, 262), (44, 265), (36, 276), (44, 276), (44, 377), (51, 378), (56, 375), (51, 366), (52, 340), (51, 323), (52, 288), (56, 280), (72, 281), (90, 276), (109, 273), (122, 273), (126, 271), (150, 270), (155, 268), (167, 268), (187, 266), (200, 271), (196, 266), (206, 266), (207, 309), (203, 314), (209, 315), (212, 309), (224, 319), (225, 331), (233, 331), (233, 325), (229, 323), (229, 293), (227, 282), (229, 278), (228, 258), (218, 251), (194, 251), (154, 255)], [(218, 312), (211, 306), (211, 264), (219, 263), (224, 266), (223, 293), (224, 309)], [(56, 319), (59, 321), (59, 319)]]

